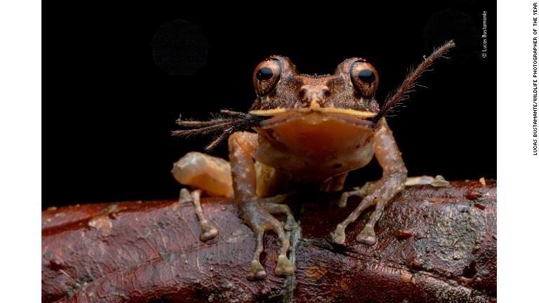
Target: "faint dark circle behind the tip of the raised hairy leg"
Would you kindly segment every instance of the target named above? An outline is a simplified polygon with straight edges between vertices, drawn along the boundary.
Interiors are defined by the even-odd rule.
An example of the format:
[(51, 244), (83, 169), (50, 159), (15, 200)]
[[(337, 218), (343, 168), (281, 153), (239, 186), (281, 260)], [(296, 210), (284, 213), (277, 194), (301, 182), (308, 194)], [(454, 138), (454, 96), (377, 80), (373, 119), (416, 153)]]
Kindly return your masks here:
[(481, 33), (472, 17), (455, 9), (434, 13), (423, 29), (423, 39), (425, 54), (448, 40), (455, 41), (456, 47), (448, 54), (451, 60), (440, 60), (441, 63), (460, 64), (481, 50)]

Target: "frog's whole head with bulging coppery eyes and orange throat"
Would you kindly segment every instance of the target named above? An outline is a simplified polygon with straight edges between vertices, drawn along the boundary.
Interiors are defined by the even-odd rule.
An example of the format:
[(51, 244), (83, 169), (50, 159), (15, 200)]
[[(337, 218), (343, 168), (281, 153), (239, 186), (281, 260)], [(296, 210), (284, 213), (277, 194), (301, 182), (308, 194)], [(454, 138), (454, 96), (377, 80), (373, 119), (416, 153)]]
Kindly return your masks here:
[(272, 56), (255, 68), (253, 83), (257, 98), (248, 113), (263, 119), (256, 129), (274, 152), (324, 159), (371, 147), (372, 118), (380, 111), (378, 73), (366, 60), (347, 59), (331, 75), (310, 76), (299, 74), (288, 58)]

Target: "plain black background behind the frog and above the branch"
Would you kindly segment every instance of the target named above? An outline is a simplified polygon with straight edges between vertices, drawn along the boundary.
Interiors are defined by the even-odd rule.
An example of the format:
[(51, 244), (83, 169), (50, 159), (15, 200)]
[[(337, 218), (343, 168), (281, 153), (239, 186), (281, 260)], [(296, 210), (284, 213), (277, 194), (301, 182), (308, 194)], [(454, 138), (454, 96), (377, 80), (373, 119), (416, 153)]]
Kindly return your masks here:
[[(176, 198), (172, 163), (211, 138), (171, 137), (175, 119), (180, 113), (207, 119), (222, 108), (245, 112), (255, 99), (253, 69), (268, 55), (286, 55), (307, 74), (366, 58), (378, 69), (382, 102), (422, 55), (450, 38), (458, 46), (451, 59), (437, 62), (422, 77), (428, 88), (388, 122), (409, 175), (495, 177), (494, 1), (378, 2), (58, 6), (45, 27), (51, 55), (43, 207)], [(481, 58), (482, 11), (488, 11), (487, 58)], [(212, 154), (226, 157), (225, 144)], [(349, 184), (380, 173), (373, 161)]]

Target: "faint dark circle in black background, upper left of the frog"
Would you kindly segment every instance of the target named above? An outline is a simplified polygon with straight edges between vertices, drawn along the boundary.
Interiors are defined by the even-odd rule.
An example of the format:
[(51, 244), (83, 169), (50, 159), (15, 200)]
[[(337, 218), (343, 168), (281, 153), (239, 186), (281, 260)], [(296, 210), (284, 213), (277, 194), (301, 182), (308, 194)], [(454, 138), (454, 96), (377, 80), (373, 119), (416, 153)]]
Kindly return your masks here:
[(178, 19), (157, 29), (152, 55), (167, 74), (187, 76), (206, 63), (208, 41), (198, 25)]

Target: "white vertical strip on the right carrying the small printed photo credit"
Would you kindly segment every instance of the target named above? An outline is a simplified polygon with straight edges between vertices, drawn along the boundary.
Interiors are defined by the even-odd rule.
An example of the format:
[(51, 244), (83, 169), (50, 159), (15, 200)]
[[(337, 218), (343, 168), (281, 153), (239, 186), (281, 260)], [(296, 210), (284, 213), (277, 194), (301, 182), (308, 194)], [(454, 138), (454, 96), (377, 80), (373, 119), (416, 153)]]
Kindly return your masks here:
[[(498, 1), (498, 302), (538, 302), (539, 156), (532, 155), (531, 137), (534, 2), (539, 4)], [(493, 130), (485, 125), (484, 131)], [(484, 152), (493, 152), (491, 142), (485, 142)]]

